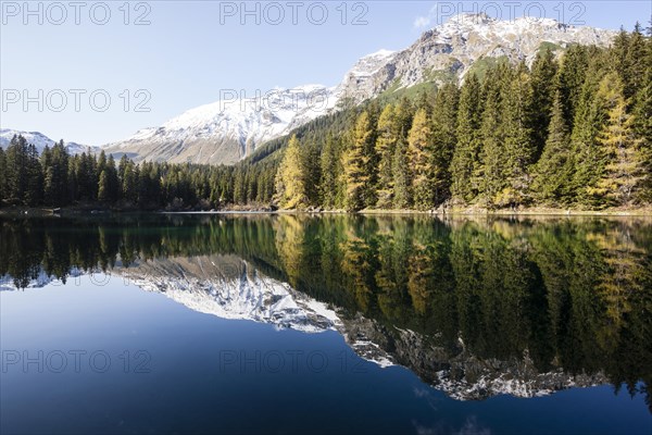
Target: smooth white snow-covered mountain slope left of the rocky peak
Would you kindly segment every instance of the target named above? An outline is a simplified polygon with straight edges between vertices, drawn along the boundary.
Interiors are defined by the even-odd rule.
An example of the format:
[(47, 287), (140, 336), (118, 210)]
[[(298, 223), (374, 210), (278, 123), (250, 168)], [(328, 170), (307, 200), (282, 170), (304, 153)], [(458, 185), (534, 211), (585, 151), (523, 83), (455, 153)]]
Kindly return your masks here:
[(325, 114), (335, 102), (333, 89), (321, 85), (277, 88), (190, 109), (160, 127), (141, 129), (105, 149), (135, 160), (235, 163), (258, 145)]

